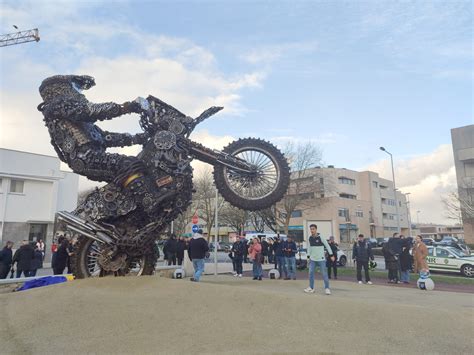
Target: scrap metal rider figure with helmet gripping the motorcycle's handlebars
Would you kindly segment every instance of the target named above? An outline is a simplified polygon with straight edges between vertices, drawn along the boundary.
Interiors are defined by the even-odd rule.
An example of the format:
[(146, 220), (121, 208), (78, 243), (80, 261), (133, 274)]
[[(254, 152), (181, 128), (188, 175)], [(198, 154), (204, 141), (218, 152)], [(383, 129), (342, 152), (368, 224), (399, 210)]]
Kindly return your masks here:
[(141, 113), (148, 109), (148, 102), (137, 98), (121, 105), (91, 103), (82, 90), (94, 85), (94, 78), (87, 75), (55, 75), (43, 80), (39, 92), (44, 101), (38, 105), (38, 110), (43, 113), (51, 144), (59, 158), (75, 173), (94, 181), (113, 181), (117, 189), (130, 189), (137, 204), (150, 212), (153, 204), (144, 206), (141, 203), (142, 197), (145, 194), (150, 197), (154, 190), (144, 178), (146, 168), (143, 163), (133, 156), (106, 152), (110, 147), (144, 144), (147, 134), (132, 136), (108, 132), (94, 124), (124, 114)]

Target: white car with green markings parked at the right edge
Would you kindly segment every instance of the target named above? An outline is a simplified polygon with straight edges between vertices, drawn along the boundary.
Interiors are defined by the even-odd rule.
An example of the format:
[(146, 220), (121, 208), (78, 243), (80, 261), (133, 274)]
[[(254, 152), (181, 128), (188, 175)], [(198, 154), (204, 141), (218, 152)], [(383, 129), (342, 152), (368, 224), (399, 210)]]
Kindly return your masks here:
[(474, 276), (474, 256), (466, 256), (453, 247), (428, 247), (426, 261), (430, 271), (460, 272), (466, 277)]

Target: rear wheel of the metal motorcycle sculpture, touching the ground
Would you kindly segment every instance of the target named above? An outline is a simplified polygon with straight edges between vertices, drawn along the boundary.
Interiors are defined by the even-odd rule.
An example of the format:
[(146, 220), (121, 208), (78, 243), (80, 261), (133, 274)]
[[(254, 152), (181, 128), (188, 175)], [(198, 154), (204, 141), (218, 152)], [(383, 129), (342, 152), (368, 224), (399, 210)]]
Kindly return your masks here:
[[(99, 244), (93, 239), (80, 236), (74, 246), (74, 252), (71, 256), (71, 267), (74, 276), (77, 279), (84, 279), (88, 277), (101, 277), (107, 274), (104, 273), (97, 262), (97, 255), (99, 252)], [(155, 271), (156, 256), (143, 255), (140, 258), (132, 260), (126, 270), (119, 270), (116, 275), (123, 276), (143, 276), (152, 275)]]

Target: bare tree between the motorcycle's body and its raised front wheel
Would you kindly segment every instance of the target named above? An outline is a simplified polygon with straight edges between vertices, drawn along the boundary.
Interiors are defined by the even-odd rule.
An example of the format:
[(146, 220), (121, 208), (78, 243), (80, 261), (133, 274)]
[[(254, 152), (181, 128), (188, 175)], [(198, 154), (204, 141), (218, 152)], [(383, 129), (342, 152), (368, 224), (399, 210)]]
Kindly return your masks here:
[[(210, 170), (204, 171), (194, 180), (196, 192), (193, 196), (194, 208), (198, 211), (199, 218), (206, 222), (208, 237), (211, 235), (212, 226), (216, 220), (216, 187)], [(217, 210), (224, 204), (224, 198), (217, 196)]]

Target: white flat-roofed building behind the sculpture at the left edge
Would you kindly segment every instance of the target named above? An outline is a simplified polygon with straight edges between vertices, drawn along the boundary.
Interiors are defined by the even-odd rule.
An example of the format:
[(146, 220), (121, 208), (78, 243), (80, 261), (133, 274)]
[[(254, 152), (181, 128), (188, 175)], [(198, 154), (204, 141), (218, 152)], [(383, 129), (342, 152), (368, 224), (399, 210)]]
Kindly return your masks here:
[(1, 244), (42, 238), (49, 247), (55, 213), (76, 208), (78, 184), (57, 157), (0, 148)]

